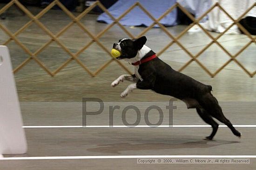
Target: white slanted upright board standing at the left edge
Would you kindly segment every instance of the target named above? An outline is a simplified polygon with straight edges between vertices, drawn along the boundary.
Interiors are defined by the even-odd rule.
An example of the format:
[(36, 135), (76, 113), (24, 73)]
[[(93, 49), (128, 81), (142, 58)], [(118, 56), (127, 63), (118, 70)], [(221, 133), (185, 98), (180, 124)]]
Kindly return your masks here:
[(7, 46), (0, 45), (0, 154), (27, 151), (20, 103)]

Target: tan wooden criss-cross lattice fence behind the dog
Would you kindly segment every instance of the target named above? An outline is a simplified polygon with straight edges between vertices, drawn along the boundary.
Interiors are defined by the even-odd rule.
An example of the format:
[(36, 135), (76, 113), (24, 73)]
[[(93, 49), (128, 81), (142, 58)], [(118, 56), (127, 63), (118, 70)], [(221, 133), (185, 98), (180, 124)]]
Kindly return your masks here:
[[(170, 7), (166, 12), (164, 12), (162, 14), (162, 16), (160, 16), (158, 19), (155, 19), (139, 2), (136, 2), (134, 5), (130, 6), (124, 13), (122, 13), (118, 18), (113, 17), (113, 15), (111, 15), (108, 10), (101, 4), (100, 1), (95, 1), (94, 4), (90, 7), (88, 7), (86, 10), (84, 10), (80, 15), (78, 15), (77, 17), (74, 16), (73, 13), (69, 12), (67, 10), (67, 8), (65, 6), (63, 6), (61, 4), (61, 2), (59, 0), (54, 0), (51, 4), (49, 4), (46, 8), (44, 8), (40, 13), (38, 13), (37, 15), (33, 15), (26, 7), (24, 7), (19, 0), (11, 0), (6, 6), (4, 6), (3, 8), (0, 9), (0, 14), (3, 13), (4, 11), (6, 11), (10, 6), (12, 6), (13, 4), (17, 5), (24, 13), (27, 14), (27, 16), (30, 18), (30, 21), (27, 22), (27, 24), (23, 25), (18, 31), (12, 33), (11, 31), (9, 31), (4, 25), (0, 24), (0, 28), (9, 36), (9, 39), (7, 39), (6, 42), (3, 43), (3, 45), (7, 45), (10, 41), (14, 41), (16, 44), (18, 44), (30, 57), (28, 57), (25, 61), (23, 61), (17, 68), (15, 68), (13, 70), (14, 73), (16, 73), (17, 71), (19, 71), (23, 66), (25, 66), (30, 60), (34, 59), (34, 61), (36, 63), (38, 63), (38, 65), (44, 69), (49, 75), (54, 76), (56, 75), (58, 72), (61, 71), (61, 69), (63, 69), (64, 67), (67, 66), (68, 63), (70, 63), (72, 60), (75, 60), (79, 65), (81, 65), (81, 67), (83, 69), (85, 69), (88, 74), (90, 74), (91, 76), (96, 76), (100, 71), (102, 71), (103, 69), (105, 69), (106, 67), (108, 67), (108, 65), (110, 63), (112, 63), (113, 61), (115, 61), (116, 63), (118, 63), (123, 69), (125, 69), (128, 73), (131, 74), (131, 72), (129, 71), (129, 69), (127, 67), (125, 67), (125, 65), (123, 65), (119, 60), (111, 57), (110, 54), (110, 50), (107, 49), (100, 41), (99, 38), (106, 32), (108, 31), (111, 27), (113, 27), (113, 25), (118, 25), (130, 38), (138, 38), (141, 37), (142, 35), (144, 35), (146, 32), (148, 32), (150, 29), (152, 29), (154, 27), (154, 25), (159, 25), (160, 29), (162, 29), (162, 31), (164, 31), (168, 37), (171, 39), (170, 43), (168, 43), (162, 50), (160, 50), (157, 55), (160, 56), (165, 50), (167, 50), (172, 44), (176, 43), (182, 50), (184, 50), (189, 57), (191, 57), (191, 59), (185, 63), (180, 69), (179, 71), (182, 71), (183, 69), (185, 69), (187, 66), (189, 66), (190, 63), (192, 63), (193, 61), (196, 62), (203, 70), (206, 71), (206, 73), (209, 74), (209, 76), (214, 77), (216, 76), (222, 69), (224, 69), (231, 61), (234, 61), (239, 67), (241, 67), (250, 77), (253, 77), (256, 74), (256, 70), (254, 72), (249, 72), (248, 69), (246, 69), (242, 63), (240, 63), (239, 61), (236, 60), (236, 57), (241, 54), (243, 52), (243, 50), (245, 50), (250, 44), (255, 43), (256, 44), (256, 37), (253, 37), (249, 34), (249, 32), (239, 23), (239, 21), (254, 7), (256, 6), (256, 3), (254, 3), (251, 7), (249, 7), (238, 19), (234, 19), (232, 18), (229, 13), (227, 13), (222, 6), (219, 3), (216, 3), (214, 6), (210, 7), (209, 10), (207, 10), (205, 13), (202, 14), (201, 17), (199, 17), (198, 19), (195, 19), (184, 7), (182, 7), (179, 3), (175, 3), (175, 5), (173, 5), (172, 7)], [(53, 32), (51, 32), (50, 30), (47, 29), (47, 27), (45, 25), (43, 25), (39, 19), (45, 14), (47, 13), (47, 11), (49, 11), (53, 6), (59, 6), (62, 11), (64, 13), (67, 14), (67, 16), (69, 16), (72, 21), (67, 24), (64, 28), (61, 29), (61, 31), (59, 31), (56, 35), (53, 34)], [(91, 33), (88, 28), (86, 28), (85, 25), (83, 25), (80, 21), (80, 19), (82, 19), (86, 14), (88, 14), (95, 6), (99, 6), (105, 13), (108, 14), (108, 16), (113, 19), (113, 22), (108, 25), (104, 30), (102, 30), (101, 32), (99, 32), (97, 35), (94, 35), (93, 33)], [(146, 13), (148, 15), (148, 17), (150, 19), (152, 19), (154, 22), (149, 25), (147, 28), (145, 28), (143, 31), (141, 31), (141, 33), (139, 33), (137, 36), (134, 36), (133, 34), (131, 34), (123, 25), (120, 24), (120, 19), (122, 19), (125, 15), (127, 15), (131, 10), (133, 10), (136, 6), (138, 6), (139, 8), (141, 8), (141, 10)], [(223, 13), (225, 13), (232, 21), (233, 23), (231, 25), (229, 25), (229, 27), (223, 31), (222, 33), (220, 33), (216, 38), (214, 38), (207, 30), (205, 30), (205, 28), (202, 27), (202, 25), (200, 25), (199, 21), (205, 17), (210, 11), (212, 11), (214, 8), (218, 7)], [(175, 8), (180, 8), (182, 10), (183, 13), (185, 13), (189, 19), (191, 19), (193, 21), (193, 23), (191, 25), (189, 25), (186, 29), (184, 29), (178, 36), (173, 36), (168, 29), (163, 26), (160, 23), (160, 20), (163, 19), (166, 15), (168, 15), (168, 13), (170, 13), (172, 10), (174, 10)], [(24, 31), (29, 25), (31, 25), (32, 23), (37, 24), (48, 36), (51, 37), (51, 39), (44, 44), (43, 46), (41, 46), (38, 50), (36, 50), (34, 53), (32, 53), (24, 44), (22, 44), (18, 39), (17, 36)], [(67, 29), (69, 27), (71, 27), (72, 25), (77, 24), (90, 38), (91, 41), (88, 42), (88, 44), (86, 44), (83, 48), (81, 48), (81, 50), (77, 51), (76, 53), (72, 53), (59, 39), (59, 37), (65, 32), (67, 31)], [(189, 50), (187, 50), (184, 45), (182, 45), (179, 42), (179, 38), (181, 38), (192, 26), (194, 25), (198, 25), (202, 31), (204, 31), (206, 33), (206, 35), (212, 40), (209, 44), (207, 44), (202, 50), (200, 50), (197, 54), (193, 55)], [(233, 25), (237, 25), (241, 31), (243, 31), (243, 33), (250, 39), (250, 41), (245, 44), (245, 46), (239, 50), (235, 55), (232, 55), (226, 48), (224, 48), (217, 40), (222, 37), (222, 35), (227, 32)], [(37, 57), (39, 55), (40, 52), (42, 52), (43, 50), (46, 49), (46, 47), (51, 44), (52, 42), (56, 42), (62, 50), (66, 51), (67, 54), (70, 56), (70, 58), (63, 63), (59, 68), (57, 68), (56, 70), (54, 70), (54, 72), (51, 72), (45, 65), (44, 63), (42, 63), (40, 61), (40, 59)], [(88, 47), (93, 44), (96, 43), (98, 44), (104, 51), (106, 51), (108, 53), (108, 55), (111, 57), (109, 59), (108, 62), (104, 63), (100, 68), (98, 68), (95, 72), (92, 72), (91, 70), (89, 70), (82, 62), (81, 60), (79, 60), (79, 55), (88, 49)], [(217, 44), (222, 50), (223, 52), (225, 52), (230, 59), (224, 63), (219, 69), (217, 69), (214, 73), (210, 72), (209, 69), (207, 69), (207, 67), (205, 65), (203, 65), (198, 59), (197, 57), (199, 57), (205, 50), (207, 50), (212, 44)], [(93, 59), (92, 59), (93, 60)]]

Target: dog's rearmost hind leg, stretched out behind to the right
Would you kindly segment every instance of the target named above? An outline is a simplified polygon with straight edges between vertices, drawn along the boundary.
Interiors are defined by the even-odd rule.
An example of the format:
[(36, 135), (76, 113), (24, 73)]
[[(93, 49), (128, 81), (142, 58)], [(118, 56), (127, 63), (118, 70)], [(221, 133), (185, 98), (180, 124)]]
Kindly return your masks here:
[(227, 125), (234, 135), (241, 137), (241, 133), (238, 132), (231, 124), (231, 122), (224, 116), (224, 114), (222, 113), (222, 108), (219, 106), (218, 101), (211, 93), (205, 94), (202, 97), (202, 100), (200, 100), (200, 105), (205, 108), (205, 110), (212, 117)]

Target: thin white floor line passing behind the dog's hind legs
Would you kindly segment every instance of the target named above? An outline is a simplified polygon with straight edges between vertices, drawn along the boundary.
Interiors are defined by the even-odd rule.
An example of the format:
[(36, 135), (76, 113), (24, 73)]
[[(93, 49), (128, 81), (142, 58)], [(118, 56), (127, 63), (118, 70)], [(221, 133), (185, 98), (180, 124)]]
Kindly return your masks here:
[[(125, 125), (97, 125), (97, 126), (23, 126), (23, 128), (110, 128), (110, 127), (211, 127), (210, 125), (160, 125), (160, 126), (125, 126)], [(219, 127), (227, 127), (226, 125), (219, 125)], [(234, 125), (234, 127), (256, 127), (256, 125)]]

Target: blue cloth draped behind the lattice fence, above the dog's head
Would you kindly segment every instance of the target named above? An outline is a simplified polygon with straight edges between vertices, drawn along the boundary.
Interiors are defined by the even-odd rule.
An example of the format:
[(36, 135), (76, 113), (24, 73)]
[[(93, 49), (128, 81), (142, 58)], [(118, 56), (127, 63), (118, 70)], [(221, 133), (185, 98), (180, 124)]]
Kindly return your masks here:
[[(130, 6), (132, 6), (138, 0), (118, 0), (113, 6), (111, 6), (108, 11), (115, 17), (118, 18), (122, 13), (124, 13)], [(158, 19), (168, 8), (173, 6), (176, 0), (139, 0), (141, 5), (148, 10), (149, 13)], [(177, 9), (175, 8), (171, 13), (166, 15), (160, 23), (165, 26), (177, 25)], [(110, 24), (113, 20), (106, 13), (102, 13), (97, 21), (106, 22)], [(120, 21), (122, 25), (128, 26), (138, 26), (145, 25), (149, 26), (153, 23), (153, 20), (144, 13), (140, 7), (136, 6), (130, 13), (124, 16)], [(158, 27), (158, 25), (155, 25)]]

